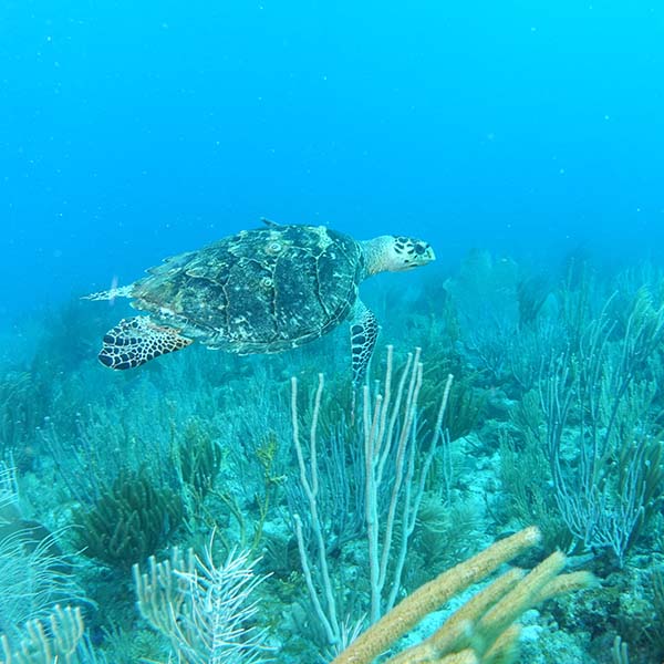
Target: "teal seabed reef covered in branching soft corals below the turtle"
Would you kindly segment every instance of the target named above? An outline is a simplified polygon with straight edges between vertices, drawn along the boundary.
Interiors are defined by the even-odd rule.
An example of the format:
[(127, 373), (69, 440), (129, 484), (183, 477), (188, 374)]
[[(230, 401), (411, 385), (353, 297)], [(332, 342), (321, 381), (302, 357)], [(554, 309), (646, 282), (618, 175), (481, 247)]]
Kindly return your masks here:
[[(562, 652), (592, 664), (661, 660), (664, 274), (579, 261), (541, 273), (477, 251), (408, 289), (375, 280), (366, 301), (383, 321), (380, 344), (393, 350), (375, 353), (363, 391), (351, 385), (343, 331), (260, 357), (193, 346), (123, 376), (94, 359), (102, 319), (117, 312), (72, 303), (27, 331), (32, 343), (6, 361), (0, 382), (4, 660), (29, 662), (21, 643), (32, 637), (58, 652), (50, 615), (77, 625), (79, 606), (86, 630), (73, 662), (167, 661), (169, 652), (197, 661), (178, 651), (173, 624), (149, 626), (152, 600), (136, 611), (128, 572), (141, 566), (142, 594), (155, 587), (153, 572), (166, 583), (158, 566), (169, 560), (173, 592), (181, 591), (174, 614), (185, 612), (177, 624), (191, 621), (187, 593), (203, 598), (205, 579), (225, 568), (206, 558), (212, 530), (216, 561), (249, 550), (252, 578), (267, 578), (247, 598), (259, 612), (241, 627), (248, 643), (256, 633), (274, 649), (260, 657), (332, 661), (372, 639), (359, 634), (384, 629), (388, 652), (372, 646), (367, 662), (454, 653), (548, 664)], [(601, 584), (546, 603), (543, 590), (530, 593), (502, 622), (496, 612), (525, 588), (517, 572), (461, 591), (449, 606), (439, 606), (445, 593), (417, 604), (417, 589), (443, 570), (530, 525), (544, 551), (560, 549)], [(189, 549), (197, 553), (173, 558)], [(544, 564), (543, 589), (568, 578), (557, 575), (561, 563), (559, 553), (542, 563), (536, 547), (517, 560)], [(397, 639), (392, 623), (377, 625), (402, 605), (434, 613)], [(446, 650), (461, 620), (455, 610), (475, 612), (475, 637), (464, 642), (465, 631)], [(201, 649), (205, 661), (214, 650)]]

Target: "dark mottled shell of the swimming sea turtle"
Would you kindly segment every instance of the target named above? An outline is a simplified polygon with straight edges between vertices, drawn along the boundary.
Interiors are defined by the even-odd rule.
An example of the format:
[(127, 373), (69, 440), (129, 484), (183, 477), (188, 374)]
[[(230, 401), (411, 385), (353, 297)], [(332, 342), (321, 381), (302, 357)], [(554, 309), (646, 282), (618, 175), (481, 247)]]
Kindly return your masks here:
[(243, 230), (168, 258), (133, 289), (137, 309), (209, 347), (272, 353), (345, 320), (364, 277), (351, 237), (322, 226)]

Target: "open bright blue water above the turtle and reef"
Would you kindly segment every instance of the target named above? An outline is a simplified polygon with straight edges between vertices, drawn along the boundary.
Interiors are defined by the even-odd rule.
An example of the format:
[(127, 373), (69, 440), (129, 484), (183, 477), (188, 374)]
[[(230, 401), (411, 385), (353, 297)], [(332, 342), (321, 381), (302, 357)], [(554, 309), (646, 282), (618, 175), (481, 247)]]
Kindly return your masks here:
[[(7, 310), (260, 217), (661, 259), (654, 2), (2, 2)], [(15, 284), (20, 284), (17, 288)]]

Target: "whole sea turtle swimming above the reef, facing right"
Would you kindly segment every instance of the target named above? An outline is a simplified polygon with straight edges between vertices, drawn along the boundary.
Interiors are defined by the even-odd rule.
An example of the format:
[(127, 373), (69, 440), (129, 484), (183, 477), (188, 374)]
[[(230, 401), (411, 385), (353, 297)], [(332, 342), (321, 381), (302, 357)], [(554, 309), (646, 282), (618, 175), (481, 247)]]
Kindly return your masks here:
[(134, 283), (87, 295), (132, 298), (147, 315), (122, 320), (103, 340), (100, 362), (133, 369), (199, 341), (238, 354), (277, 353), (351, 324), (352, 369), (362, 381), (378, 325), (357, 298), (360, 283), (435, 259), (427, 242), (403, 236), (356, 241), (324, 226), (242, 230), (167, 258)]

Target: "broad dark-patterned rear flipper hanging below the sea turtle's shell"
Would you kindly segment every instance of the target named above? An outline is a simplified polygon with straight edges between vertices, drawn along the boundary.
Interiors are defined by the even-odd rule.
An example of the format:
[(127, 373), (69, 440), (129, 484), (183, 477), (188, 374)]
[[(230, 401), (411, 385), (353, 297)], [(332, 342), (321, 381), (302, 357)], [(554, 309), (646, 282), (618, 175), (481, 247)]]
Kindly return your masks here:
[(98, 360), (108, 369), (134, 369), (191, 343), (177, 330), (156, 325), (146, 315), (137, 315), (123, 319), (106, 332)]

